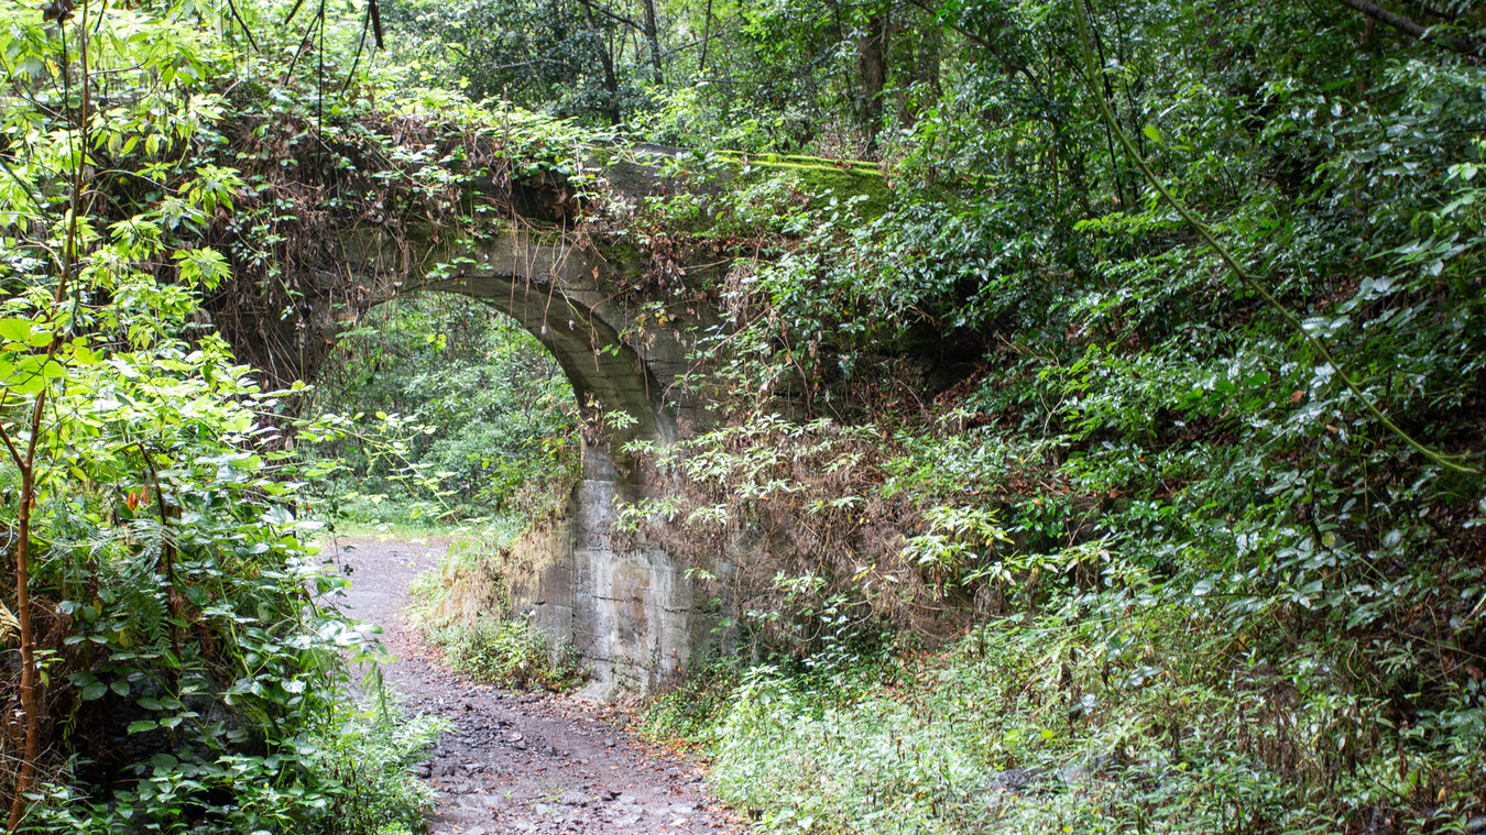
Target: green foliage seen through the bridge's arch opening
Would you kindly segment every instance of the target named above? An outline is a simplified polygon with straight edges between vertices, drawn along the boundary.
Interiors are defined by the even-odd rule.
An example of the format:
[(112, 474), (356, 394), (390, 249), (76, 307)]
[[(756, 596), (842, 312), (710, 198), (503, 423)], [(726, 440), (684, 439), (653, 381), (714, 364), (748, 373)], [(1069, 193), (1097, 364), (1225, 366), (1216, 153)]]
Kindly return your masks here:
[(517, 527), (566, 501), (580, 475), (578, 404), (556, 357), (470, 299), (374, 306), (340, 334), (311, 406), (354, 416), (354, 434), (330, 450), (349, 467), (337, 493), (352, 523)]

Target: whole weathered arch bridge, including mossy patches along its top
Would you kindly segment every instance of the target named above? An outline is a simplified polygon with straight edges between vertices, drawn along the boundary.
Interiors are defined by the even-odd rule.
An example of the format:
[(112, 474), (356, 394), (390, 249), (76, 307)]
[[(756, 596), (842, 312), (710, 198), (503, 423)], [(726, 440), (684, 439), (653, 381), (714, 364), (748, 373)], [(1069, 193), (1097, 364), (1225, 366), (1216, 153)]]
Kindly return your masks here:
[[(676, 155), (664, 149), (645, 153), (661, 162)], [(820, 171), (838, 195), (881, 196), (875, 169), (794, 166)], [(633, 156), (602, 163), (600, 181), (605, 199), (630, 205), (685, 187), (663, 177), (657, 163), (635, 162)], [(591, 695), (649, 689), (703, 645), (715, 617), (694, 593), (687, 566), (660, 548), (614, 535), (618, 507), (666, 492), (666, 484), (649, 483), (640, 468), (627, 465), (623, 449), (633, 440), (675, 443), (706, 423), (706, 404), (678, 383), (690, 370), (694, 339), (721, 315), (715, 303), (707, 309), (703, 296), (676, 290), (678, 282), (682, 290), (716, 287), (728, 264), (715, 254), (678, 256), (667, 264), (672, 285), (660, 290), (648, 278), (649, 254), (623, 235), (574, 221), (584, 207), (563, 178), (538, 175), (510, 183), (493, 198), (477, 198), (498, 205), (504, 220), (490, 223), (484, 233), (444, 236), (441, 242), (428, 242), (437, 233), (413, 236), (364, 217), (321, 224), (333, 239), (315, 244), (321, 256), (299, 285), (300, 318), (279, 316), (273, 324), (260, 312), (229, 339), (239, 348), (297, 340), (303, 357), (306, 345), (318, 348), (321, 337), (328, 345), (349, 324), (348, 311), (425, 291), (477, 299), (536, 336), (571, 380), (585, 425), (597, 428), (584, 437), (583, 477), (566, 507), (513, 545), (510, 563), (520, 568), (504, 578), (510, 588), (496, 593), (490, 582), (467, 578), (465, 587), (452, 590), (446, 614), (531, 614), (542, 630), (578, 648), (594, 673)], [(349, 284), (348, 276), (354, 278)], [(345, 303), (351, 285), (363, 293), (357, 305)], [(640, 308), (664, 315), (639, 321)], [(227, 318), (221, 309), (214, 315), (218, 322)], [(302, 361), (297, 374), (311, 377), (314, 367)], [(615, 413), (629, 419), (606, 419)]]

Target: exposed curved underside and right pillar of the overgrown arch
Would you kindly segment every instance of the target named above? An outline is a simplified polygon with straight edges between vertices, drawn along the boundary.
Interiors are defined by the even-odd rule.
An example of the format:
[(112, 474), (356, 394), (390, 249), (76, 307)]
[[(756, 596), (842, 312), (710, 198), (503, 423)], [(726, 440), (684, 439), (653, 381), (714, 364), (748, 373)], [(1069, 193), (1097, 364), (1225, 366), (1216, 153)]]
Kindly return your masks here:
[[(508, 614), (531, 615), (548, 634), (571, 640), (593, 670), (590, 695), (645, 691), (672, 676), (709, 639), (712, 618), (687, 566), (661, 548), (615, 536), (614, 520), (623, 504), (667, 489), (624, 461), (624, 444), (673, 443), (706, 420), (703, 406), (678, 386), (690, 367), (691, 328), (704, 322), (667, 311), (667, 325), (637, 327), (632, 290), (645, 263), (626, 247), (517, 230), (409, 263), (406, 253), (372, 244), (361, 248), (363, 275), (398, 281), (398, 294), (477, 299), (532, 333), (557, 360), (588, 425), (583, 478), (566, 507), (513, 544), (519, 559), (508, 562), (531, 569), (505, 578)], [(618, 412), (629, 419), (611, 419)]]

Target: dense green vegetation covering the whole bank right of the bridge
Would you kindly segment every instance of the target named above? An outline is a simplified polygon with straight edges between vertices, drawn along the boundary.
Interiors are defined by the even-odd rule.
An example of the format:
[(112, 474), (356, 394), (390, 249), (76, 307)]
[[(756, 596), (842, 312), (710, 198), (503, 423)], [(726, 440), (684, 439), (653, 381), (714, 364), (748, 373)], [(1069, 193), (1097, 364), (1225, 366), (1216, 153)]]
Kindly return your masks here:
[(728, 420), (639, 450), (684, 489), (629, 523), (774, 658), (701, 700), (719, 790), (780, 831), (1480, 828), (1480, 68), (1311, 6), (964, 7), (1006, 83), (884, 140), (887, 212), (776, 202), (698, 352)]

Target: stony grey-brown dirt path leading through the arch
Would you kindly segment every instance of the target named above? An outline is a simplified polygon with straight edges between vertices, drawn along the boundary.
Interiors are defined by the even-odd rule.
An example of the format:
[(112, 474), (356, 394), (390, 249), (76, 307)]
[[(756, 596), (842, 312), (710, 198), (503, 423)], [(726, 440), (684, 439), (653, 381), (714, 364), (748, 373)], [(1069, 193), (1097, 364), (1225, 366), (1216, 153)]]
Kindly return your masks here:
[(514, 694), (443, 667), (404, 608), (409, 582), (444, 547), (343, 539), (337, 554), (352, 571), (343, 608), (385, 630), (395, 658), (383, 667), (388, 685), (409, 712), (453, 724), (416, 768), (437, 790), (432, 834), (746, 832), (706, 795), (698, 767), (643, 750), (614, 707)]

